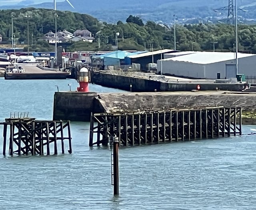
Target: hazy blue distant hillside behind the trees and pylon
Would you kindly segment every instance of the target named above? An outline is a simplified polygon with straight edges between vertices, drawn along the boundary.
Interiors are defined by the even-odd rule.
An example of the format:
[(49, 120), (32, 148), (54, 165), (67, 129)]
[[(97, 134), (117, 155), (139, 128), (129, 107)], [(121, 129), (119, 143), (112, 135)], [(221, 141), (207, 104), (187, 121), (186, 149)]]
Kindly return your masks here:
[[(46, 0), (50, 1), (50, 0)], [(69, 10), (90, 14), (99, 20), (116, 23), (118, 20), (125, 21), (132, 14), (140, 16), (142, 20), (153, 20), (170, 24), (173, 15), (176, 14), (178, 22), (198, 23), (203, 21), (217, 21), (227, 17), (227, 11), (214, 12), (214, 9), (228, 6), (228, 0), (70, 0), (73, 9), (68, 2), (57, 2), (58, 10)], [(27, 2), (28, 3), (28, 2)], [(252, 0), (237, 0), (238, 7), (248, 10), (239, 10), (239, 18), (255, 19), (254, 12), (256, 3)], [(20, 9), (25, 7), (54, 8), (53, 1), (42, 4), (0, 6), (0, 9)]]

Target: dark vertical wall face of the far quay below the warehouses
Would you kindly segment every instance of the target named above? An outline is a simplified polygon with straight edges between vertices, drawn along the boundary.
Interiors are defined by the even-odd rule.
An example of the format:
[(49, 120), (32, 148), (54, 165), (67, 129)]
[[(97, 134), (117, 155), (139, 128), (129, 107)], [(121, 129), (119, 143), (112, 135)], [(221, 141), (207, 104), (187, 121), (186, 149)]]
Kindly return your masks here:
[[(196, 90), (197, 85), (200, 85), (200, 90), (228, 90), (241, 91), (244, 84), (225, 84), (225, 83), (179, 83), (179, 82), (160, 82), (146, 78), (138, 78), (136, 76), (124, 76), (109, 74), (105, 72), (92, 72), (91, 82), (109, 87), (118, 88), (120, 90), (132, 90), (132, 92), (169, 92), (169, 91), (191, 91)], [(132, 85), (132, 88), (130, 87)]]

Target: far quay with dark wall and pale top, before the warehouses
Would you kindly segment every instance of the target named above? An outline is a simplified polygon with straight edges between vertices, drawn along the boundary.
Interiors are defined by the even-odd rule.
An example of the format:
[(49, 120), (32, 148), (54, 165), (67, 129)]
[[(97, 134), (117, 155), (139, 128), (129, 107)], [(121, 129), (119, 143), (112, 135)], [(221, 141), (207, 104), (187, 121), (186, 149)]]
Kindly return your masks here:
[[(129, 72), (128, 72), (129, 73)], [(242, 83), (215, 83), (214, 80), (195, 80), (187, 78), (176, 78), (172, 76), (160, 76), (141, 72), (91, 72), (91, 82), (109, 88), (118, 88), (131, 92), (172, 92), (196, 90), (200, 85), (200, 90), (227, 90), (241, 91), (244, 87)]]

